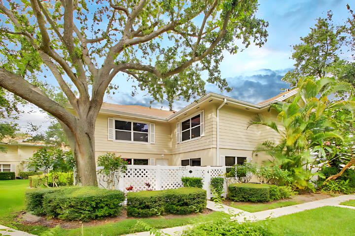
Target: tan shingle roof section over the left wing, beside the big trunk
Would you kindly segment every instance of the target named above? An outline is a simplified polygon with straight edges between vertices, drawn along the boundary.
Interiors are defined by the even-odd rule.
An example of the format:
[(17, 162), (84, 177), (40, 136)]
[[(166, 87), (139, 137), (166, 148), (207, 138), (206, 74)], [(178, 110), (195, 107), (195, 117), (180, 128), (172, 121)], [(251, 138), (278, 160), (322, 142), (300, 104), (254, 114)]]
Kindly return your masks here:
[(143, 107), (139, 105), (118, 105), (118, 104), (112, 104), (106, 102), (103, 103), (101, 109), (116, 111), (116, 112), (134, 113), (134, 114), (160, 117), (160, 118), (168, 118), (175, 113), (174, 111), (166, 111), (166, 110), (161, 110), (156, 108)]

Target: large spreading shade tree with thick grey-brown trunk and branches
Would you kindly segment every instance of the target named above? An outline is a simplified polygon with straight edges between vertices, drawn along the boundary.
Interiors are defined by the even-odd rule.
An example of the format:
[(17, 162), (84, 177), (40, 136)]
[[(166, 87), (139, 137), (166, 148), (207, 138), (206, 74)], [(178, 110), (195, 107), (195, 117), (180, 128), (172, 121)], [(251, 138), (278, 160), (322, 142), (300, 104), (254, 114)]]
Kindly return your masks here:
[[(112, 79), (126, 74), (170, 104), (204, 94), (202, 71), (207, 82), (229, 90), (218, 69), (223, 53), (266, 39), (268, 23), (255, 17), (257, 6), (257, 0), (0, 0), (0, 87), (60, 121), (82, 184), (97, 185), (95, 120), (105, 92), (119, 86)], [(45, 69), (59, 93), (37, 79), (48, 76)]]

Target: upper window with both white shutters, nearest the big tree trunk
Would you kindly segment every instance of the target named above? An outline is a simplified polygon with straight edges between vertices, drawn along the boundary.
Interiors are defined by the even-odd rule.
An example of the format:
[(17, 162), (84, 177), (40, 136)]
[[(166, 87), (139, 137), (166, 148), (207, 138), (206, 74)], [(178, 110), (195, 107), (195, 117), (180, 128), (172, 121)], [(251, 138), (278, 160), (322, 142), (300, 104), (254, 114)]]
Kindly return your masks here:
[(108, 140), (155, 143), (155, 124), (136, 120), (108, 118)]

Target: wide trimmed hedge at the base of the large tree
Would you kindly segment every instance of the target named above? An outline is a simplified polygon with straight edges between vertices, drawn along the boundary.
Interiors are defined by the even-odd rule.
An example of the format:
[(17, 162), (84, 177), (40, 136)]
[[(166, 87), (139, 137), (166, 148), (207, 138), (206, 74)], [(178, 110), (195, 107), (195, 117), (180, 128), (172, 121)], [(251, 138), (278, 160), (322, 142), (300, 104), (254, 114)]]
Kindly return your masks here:
[(28, 211), (65, 220), (103, 218), (121, 212), (124, 193), (98, 187), (59, 187), (26, 192)]

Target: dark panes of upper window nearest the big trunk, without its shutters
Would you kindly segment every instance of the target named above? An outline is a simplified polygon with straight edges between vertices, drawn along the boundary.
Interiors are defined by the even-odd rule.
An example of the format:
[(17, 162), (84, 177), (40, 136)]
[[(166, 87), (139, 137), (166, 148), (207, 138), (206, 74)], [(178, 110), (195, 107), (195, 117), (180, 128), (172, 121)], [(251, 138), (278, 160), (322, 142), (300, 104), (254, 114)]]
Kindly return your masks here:
[(115, 140), (126, 140), (148, 143), (148, 124), (115, 120)]

